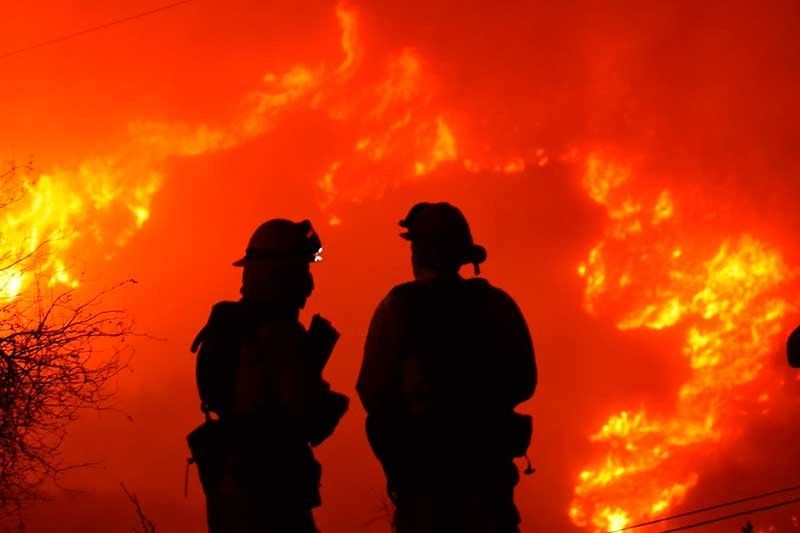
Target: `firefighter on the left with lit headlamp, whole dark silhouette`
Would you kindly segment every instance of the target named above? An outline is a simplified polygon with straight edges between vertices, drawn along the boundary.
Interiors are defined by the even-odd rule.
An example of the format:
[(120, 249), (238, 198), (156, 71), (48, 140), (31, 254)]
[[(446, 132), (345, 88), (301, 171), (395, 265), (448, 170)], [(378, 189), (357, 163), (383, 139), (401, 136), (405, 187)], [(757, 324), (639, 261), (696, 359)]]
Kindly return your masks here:
[(241, 299), (216, 304), (193, 343), (206, 421), (188, 443), (212, 533), (316, 531), (311, 446), (348, 404), (322, 379), (338, 333), (319, 316), (308, 330), (299, 321), (321, 249), (308, 221), (262, 224), (234, 263)]

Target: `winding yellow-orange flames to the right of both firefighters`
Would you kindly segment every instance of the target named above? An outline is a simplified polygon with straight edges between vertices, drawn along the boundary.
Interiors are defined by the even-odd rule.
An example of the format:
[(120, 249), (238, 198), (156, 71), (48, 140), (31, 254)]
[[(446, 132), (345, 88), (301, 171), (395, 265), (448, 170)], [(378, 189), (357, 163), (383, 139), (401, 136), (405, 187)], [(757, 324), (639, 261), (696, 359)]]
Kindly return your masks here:
[(701, 458), (735, 439), (735, 413), (769, 401), (765, 365), (791, 309), (776, 290), (792, 276), (780, 253), (741, 235), (701, 258), (670, 192), (637, 193), (633, 182), (629, 167), (588, 158), (584, 186), (609, 222), (578, 269), (585, 308), (617, 317), (620, 330), (680, 328), (691, 373), (671, 414), (623, 411), (590, 437), (602, 455), (580, 473), (569, 515), (595, 531), (684, 500)]

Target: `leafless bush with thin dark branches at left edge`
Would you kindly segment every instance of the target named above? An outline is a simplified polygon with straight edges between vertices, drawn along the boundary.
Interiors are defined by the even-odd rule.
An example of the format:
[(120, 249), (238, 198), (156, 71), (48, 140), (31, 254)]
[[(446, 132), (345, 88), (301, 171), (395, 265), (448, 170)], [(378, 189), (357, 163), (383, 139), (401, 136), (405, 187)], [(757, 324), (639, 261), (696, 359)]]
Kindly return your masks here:
[[(0, 173), (0, 196), (16, 170)], [(0, 212), (17, 198), (7, 197), (12, 200), (0, 198)], [(2, 231), (0, 273), (22, 272), (30, 288), (0, 292), (0, 517), (41, 498), (43, 483), (76, 467), (60, 455), (67, 427), (81, 410), (109, 406), (108, 385), (126, 364), (124, 341), (131, 334), (125, 312), (103, 305), (119, 285), (88, 299), (76, 289), (43, 290), (47, 282), (37, 279), (36, 260), (48, 253), (48, 243), (15, 256), (1, 247)]]

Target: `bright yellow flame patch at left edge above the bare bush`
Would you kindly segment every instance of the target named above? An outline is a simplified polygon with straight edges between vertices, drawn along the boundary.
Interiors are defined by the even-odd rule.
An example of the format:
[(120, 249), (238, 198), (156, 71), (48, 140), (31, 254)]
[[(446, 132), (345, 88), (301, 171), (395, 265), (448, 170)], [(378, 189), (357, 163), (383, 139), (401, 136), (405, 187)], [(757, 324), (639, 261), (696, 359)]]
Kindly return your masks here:
[(76, 170), (8, 174), (0, 210), (0, 300), (26, 290), (76, 287), (69, 250), (91, 239), (107, 247), (124, 245), (150, 216), (160, 176), (136, 174), (112, 158), (90, 160)]

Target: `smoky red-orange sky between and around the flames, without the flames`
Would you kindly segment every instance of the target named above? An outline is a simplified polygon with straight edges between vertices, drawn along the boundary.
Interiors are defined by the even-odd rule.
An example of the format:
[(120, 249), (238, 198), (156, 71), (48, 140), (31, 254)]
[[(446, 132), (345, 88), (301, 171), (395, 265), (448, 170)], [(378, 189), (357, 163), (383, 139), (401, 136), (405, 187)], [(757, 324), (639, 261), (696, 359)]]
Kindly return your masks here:
[[(309, 217), (318, 226), (326, 259), (314, 267), (317, 292), (307, 316), (319, 311), (342, 332), (328, 378), (352, 396), (370, 314), (410, 275), (396, 222), (416, 201), (446, 199), (470, 218), (489, 250), (484, 274), (518, 299), (537, 349), (541, 385), (525, 410), (536, 418), (538, 472), (517, 491), (523, 531), (534, 524), (538, 531), (578, 531), (567, 509), (591, 456), (587, 436), (626, 406), (666, 408), (685, 379), (685, 362), (674, 355), (679, 333), (620, 333), (611, 319), (583, 309), (576, 269), (606, 219), (581, 187), (582, 167), (562, 156), (602, 149), (634, 160), (642, 191), (670, 188), (691, 204), (685, 234), (753, 233), (800, 265), (792, 235), (800, 227), (797, 4), (695, 4), (358, 3), (363, 56), (352, 78), (324, 92), (321, 107), (293, 107), (271, 129), (224, 149), (152, 163), (163, 181), (143, 227), (121, 248), (87, 241), (69, 257), (90, 287), (139, 282), (112, 302), (154, 337), (134, 340), (135, 358), (118, 383), (117, 405), (132, 420), (87, 413), (74, 426), (68, 457), (101, 466), (70, 475), (65, 484), (84, 492), (56, 492), (28, 515), (30, 530), (51, 531), (55, 523), (62, 531), (130, 530), (135, 516), (119, 489), (124, 482), (160, 531), (201, 531), (194, 473), (189, 497), (182, 494), (183, 439), (201, 419), (188, 345), (212, 303), (236, 298), (239, 272), (230, 262), (252, 228), (273, 216)], [(0, 54), (155, 5), (4, 6)], [(335, 9), (321, 1), (196, 0), (0, 60), (0, 156), (32, 157), (36, 171), (48, 173), (93, 158), (136, 159), (141, 154), (127, 148), (132, 123), (234, 128), (265, 74), (341, 64)], [(408, 147), (400, 138), (391, 149), (401, 155), (379, 163), (352, 148), (365, 132), (385, 132), (388, 118), (361, 121), (359, 111), (403, 50), (421, 61), (420, 95), (407, 104), (413, 120), (443, 117), (458, 150), (419, 177), (409, 169), (427, 144)], [(347, 115), (348, 105), (356, 112)], [(393, 120), (404, 105), (390, 109), (399, 113)], [(337, 119), (339, 112), (347, 118)], [(547, 164), (535, 162), (537, 150)], [(462, 164), (472, 158), (491, 166), (515, 156), (526, 161), (523, 172), (466, 172)], [(344, 163), (339, 193), (327, 205), (318, 182), (334, 161)], [(126, 179), (140, 177), (136, 172)], [(341, 224), (327, 224), (333, 215)], [(131, 224), (124, 209), (112, 218), (108, 224)], [(113, 256), (105, 260), (108, 251)], [(363, 435), (363, 412), (352, 405), (318, 452), (318, 523), (330, 533), (387, 531), (385, 521), (373, 521), (383, 481)], [(796, 409), (784, 405), (780, 416), (749, 425), (734, 451), (709, 463), (686, 505), (796, 479), (785, 463), (798, 451), (788, 422)], [(745, 485), (731, 493), (733, 475)]]

